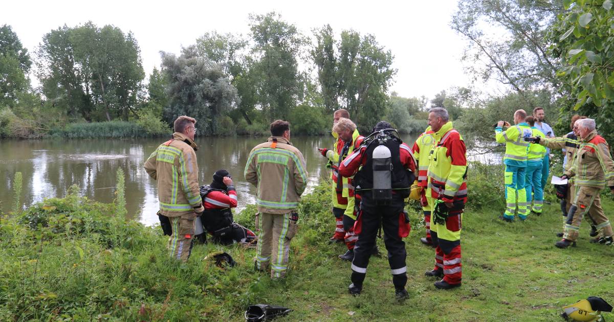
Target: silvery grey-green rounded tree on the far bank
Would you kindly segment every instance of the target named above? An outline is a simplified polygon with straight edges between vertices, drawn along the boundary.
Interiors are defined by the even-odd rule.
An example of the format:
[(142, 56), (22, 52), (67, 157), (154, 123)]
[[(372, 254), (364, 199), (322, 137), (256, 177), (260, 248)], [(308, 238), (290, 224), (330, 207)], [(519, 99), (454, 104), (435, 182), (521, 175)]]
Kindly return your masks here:
[(195, 46), (184, 48), (179, 57), (161, 55), (171, 99), (164, 108), (165, 120), (172, 123), (181, 115), (190, 115), (198, 122), (199, 134), (220, 134), (219, 118), (235, 108), (238, 100), (222, 66), (199, 55)]

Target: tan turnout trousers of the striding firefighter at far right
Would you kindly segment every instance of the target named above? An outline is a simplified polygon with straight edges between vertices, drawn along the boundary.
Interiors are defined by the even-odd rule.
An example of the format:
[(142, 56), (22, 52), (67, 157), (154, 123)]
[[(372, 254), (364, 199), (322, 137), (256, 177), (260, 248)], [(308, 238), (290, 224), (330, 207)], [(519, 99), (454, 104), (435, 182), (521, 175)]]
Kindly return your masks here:
[[(570, 191), (567, 193), (569, 194)], [(563, 238), (571, 242), (578, 239), (580, 231), (580, 222), (585, 215), (589, 215), (597, 230), (602, 237), (612, 237), (612, 226), (610, 221), (605, 217), (604, 209), (601, 207), (601, 188), (594, 186), (575, 186), (575, 196), (573, 203), (569, 207), (567, 221), (563, 227)]]

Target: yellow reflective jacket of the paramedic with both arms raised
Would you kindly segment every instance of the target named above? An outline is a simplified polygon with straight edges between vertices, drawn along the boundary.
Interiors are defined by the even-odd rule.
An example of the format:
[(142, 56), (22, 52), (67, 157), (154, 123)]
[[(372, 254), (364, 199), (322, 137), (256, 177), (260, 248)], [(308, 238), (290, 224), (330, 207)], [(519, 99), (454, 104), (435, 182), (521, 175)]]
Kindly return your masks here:
[(505, 143), (503, 163), (510, 166), (526, 167), (529, 155), (529, 142), (525, 142), (523, 137), (530, 137), (532, 135), (533, 130), (527, 123), (510, 126), (505, 132), (497, 126), (495, 128), (495, 139), (498, 143)]

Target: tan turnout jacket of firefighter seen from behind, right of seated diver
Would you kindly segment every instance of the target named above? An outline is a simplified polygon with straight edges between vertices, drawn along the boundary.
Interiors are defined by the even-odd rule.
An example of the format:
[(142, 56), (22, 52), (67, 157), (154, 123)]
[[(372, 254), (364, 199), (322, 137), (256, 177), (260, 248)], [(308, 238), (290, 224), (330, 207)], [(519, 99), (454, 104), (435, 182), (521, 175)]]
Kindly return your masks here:
[(297, 209), (308, 177), (301, 151), (279, 136), (252, 149), (244, 175), (256, 186), (258, 211), (277, 214)]

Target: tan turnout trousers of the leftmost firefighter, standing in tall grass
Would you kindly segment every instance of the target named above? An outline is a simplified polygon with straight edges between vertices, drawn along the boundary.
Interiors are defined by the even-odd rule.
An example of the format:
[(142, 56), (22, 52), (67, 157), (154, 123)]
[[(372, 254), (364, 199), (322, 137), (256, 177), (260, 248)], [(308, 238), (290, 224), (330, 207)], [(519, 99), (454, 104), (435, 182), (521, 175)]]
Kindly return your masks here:
[(168, 250), (172, 258), (187, 262), (192, 253), (194, 237), (194, 213), (180, 217), (169, 217), (173, 234), (168, 238)]

